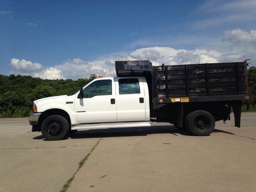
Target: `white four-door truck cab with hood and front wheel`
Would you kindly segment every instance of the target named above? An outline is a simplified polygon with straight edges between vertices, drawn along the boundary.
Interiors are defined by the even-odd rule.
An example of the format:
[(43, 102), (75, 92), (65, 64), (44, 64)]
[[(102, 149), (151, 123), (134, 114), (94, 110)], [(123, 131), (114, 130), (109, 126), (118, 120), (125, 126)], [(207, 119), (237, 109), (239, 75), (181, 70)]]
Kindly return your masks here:
[(48, 140), (76, 130), (150, 126), (149, 100), (145, 77), (97, 78), (74, 95), (34, 101), (29, 121)]

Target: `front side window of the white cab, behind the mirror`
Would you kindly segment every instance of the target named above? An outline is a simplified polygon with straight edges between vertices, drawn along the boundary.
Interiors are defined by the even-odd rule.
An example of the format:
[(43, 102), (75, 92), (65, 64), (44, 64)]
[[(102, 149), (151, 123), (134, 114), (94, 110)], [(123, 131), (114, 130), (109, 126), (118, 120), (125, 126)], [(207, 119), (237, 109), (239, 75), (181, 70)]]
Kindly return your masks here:
[(97, 95), (112, 95), (112, 80), (97, 80), (83, 90), (84, 98), (91, 98)]

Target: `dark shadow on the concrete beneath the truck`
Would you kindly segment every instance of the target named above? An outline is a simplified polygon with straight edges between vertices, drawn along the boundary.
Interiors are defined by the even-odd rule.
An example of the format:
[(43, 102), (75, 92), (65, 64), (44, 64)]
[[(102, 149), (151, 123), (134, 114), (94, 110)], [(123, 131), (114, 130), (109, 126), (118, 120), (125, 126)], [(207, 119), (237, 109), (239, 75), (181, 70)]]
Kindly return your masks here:
[[(215, 129), (214, 132), (225, 133), (234, 135), (231, 132), (226, 132), (223, 130)], [(173, 125), (169, 126), (151, 126), (151, 127), (138, 127), (138, 128), (119, 128), (119, 129), (100, 129), (100, 130), (88, 130), (88, 131), (78, 131), (73, 135), (70, 135), (71, 139), (84, 139), (84, 138), (99, 138), (99, 137), (132, 137), (132, 136), (147, 136), (150, 134), (172, 134), (178, 136), (177, 134), (191, 137), (198, 137), (187, 130), (177, 129)], [(33, 139), (43, 139), (44, 136), (36, 136)], [(68, 137), (62, 139), (65, 140)]]

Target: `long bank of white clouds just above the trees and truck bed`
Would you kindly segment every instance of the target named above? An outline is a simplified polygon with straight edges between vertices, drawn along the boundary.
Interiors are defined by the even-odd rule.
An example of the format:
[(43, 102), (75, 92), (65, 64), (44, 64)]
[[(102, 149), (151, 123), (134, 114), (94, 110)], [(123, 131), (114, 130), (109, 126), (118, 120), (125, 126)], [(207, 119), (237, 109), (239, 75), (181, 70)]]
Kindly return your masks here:
[(226, 31), (224, 40), (216, 42), (212, 49), (174, 49), (172, 47), (146, 47), (130, 52), (118, 52), (104, 55), (97, 59), (87, 61), (81, 58), (68, 59), (67, 61), (46, 68), (40, 63), (19, 60), (13, 58), (11, 65), (18, 72), (30, 74), (44, 79), (78, 79), (88, 78), (91, 74), (103, 75), (104, 77), (115, 76), (116, 60), (151, 60), (154, 66), (162, 63), (165, 65), (181, 65), (190, 63), (211, 62), (235, 62), (250, 58), (256, 61), (255, 31), (243, 31), (233, 29)]

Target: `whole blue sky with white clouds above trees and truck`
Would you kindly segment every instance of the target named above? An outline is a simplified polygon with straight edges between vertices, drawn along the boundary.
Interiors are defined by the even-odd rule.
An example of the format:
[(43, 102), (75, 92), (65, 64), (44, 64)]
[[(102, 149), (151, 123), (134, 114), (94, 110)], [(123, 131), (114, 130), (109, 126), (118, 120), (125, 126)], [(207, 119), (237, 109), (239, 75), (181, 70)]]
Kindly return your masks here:
[(256, 1), (0, 0), (0, 74), (115, 76), (115, 60), (256, 66)]

